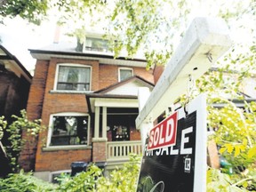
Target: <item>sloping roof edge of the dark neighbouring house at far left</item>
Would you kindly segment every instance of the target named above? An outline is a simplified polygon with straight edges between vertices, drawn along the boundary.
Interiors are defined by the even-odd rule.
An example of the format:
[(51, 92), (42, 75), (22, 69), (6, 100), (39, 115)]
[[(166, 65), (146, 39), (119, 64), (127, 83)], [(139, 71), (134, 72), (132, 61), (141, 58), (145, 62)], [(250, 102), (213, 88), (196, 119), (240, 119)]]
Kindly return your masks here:
[(16, 76), (24, 76), (29, 83), (32, 81), (32, 76), (28, 70), (21, 64), (11, 52), (9, 52), (3, 45), (0, 45), (0, 64), (4, 64), (4, 67), (9, 71), (15, 73)]

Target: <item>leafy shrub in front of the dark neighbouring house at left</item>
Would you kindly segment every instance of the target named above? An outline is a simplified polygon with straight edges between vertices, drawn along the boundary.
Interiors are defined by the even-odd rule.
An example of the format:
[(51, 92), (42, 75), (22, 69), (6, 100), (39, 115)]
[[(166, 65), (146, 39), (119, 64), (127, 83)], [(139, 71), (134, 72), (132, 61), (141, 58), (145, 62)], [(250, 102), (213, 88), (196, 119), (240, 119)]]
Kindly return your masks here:
[[(33, 138), (36, 139), (38, 133), (44, 128), (42, 127), (41, 120), (29, 121), (26, 110), (20, 111), (20, 116), (12, 115), (15, 120), (12, 124), (6, 126), (6, 122), (0, 121), (0, 126), (6, 126), (6, 132), (10, 135), (8, 140), (10, 145), (5, 146), (6, 154), (11, 159), (11, 167), (13, 172), (17, 172), (20, 168), (18, 164), (18, 158), (20, 156), (21, 149), (25, 141), (32, 141)], [(29, 140), (22, 138), (22, 132), (32, 135)], [(25, 134), (24, 134), (25, 135)]]

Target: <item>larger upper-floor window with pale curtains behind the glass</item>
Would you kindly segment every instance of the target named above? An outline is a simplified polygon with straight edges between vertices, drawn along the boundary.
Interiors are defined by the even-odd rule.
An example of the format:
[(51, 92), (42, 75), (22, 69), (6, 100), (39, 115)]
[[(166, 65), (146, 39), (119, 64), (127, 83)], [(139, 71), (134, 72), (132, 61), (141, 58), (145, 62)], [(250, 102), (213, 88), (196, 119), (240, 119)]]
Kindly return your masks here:
[(91, 67), (62, 64), (58, 69), (57, 90), (90, 91)]

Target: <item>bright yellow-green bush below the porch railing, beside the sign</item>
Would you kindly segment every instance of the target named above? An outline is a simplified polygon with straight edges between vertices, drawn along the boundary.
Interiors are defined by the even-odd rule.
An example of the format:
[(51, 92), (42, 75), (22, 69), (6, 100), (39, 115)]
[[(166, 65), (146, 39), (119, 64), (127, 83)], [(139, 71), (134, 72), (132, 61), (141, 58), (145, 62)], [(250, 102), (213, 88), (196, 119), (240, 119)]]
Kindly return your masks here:
[(75, 177), (64, 174), (58, 179), (60, 191), (135, 191), (140, 172), (140, 156), (130, 155), (130, 161), (124, 167), (113, 170), (104, 176), (102, 170), (95, 164), (89, 165), (86, 172), (80, 172)]

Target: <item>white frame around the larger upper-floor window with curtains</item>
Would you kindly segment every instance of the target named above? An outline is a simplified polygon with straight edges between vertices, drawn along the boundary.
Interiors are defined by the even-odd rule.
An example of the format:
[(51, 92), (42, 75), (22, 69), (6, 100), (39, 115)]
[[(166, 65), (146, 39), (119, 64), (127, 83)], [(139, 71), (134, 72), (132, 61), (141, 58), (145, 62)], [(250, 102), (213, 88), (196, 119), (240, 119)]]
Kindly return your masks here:
[(57, 84), (58, 84), (58, 77), (59, 77), (59, 68), (60, 66), (68, 66), (68, 67), (79, 67), (79, 68), (90, 68), (90, 87), (88, 91), (84, 92), (91, 92), (92, 90), (92, 66), (89, 65), (82, 65), (82, 64), (77, 64), (77, 63), (58, 63), (56, 66), (56, 71), (55, 71), (55, 77), (54, 77), (54, 86), (53, 90), (55, 92), (81, 92), (81, 91), (76, 91), (76, 90), (57, 90)]

